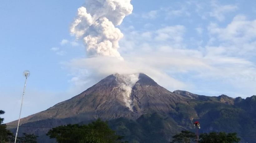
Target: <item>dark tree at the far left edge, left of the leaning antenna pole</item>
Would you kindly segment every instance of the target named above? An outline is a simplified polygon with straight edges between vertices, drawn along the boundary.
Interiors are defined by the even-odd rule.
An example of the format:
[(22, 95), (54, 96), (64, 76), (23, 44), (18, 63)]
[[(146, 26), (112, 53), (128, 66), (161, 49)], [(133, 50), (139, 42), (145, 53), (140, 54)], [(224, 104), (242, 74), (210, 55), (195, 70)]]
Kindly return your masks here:
[[(0, 110), (0, 115), (4, 114), (5, 112), (3, 110)], [(12, 141), (13, 134), (7, 130), (7, 127), (3, 123), (4, 118), (0, 117), (0, 142), (7, 142)]]

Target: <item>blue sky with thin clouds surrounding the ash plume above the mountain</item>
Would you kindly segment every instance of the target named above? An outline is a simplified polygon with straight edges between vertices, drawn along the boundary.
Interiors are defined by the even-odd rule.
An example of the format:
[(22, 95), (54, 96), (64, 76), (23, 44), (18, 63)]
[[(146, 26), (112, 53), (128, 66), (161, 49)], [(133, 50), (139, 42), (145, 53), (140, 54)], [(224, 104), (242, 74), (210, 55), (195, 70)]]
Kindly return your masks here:
[(170, 91), (256, 94), (255, 1), (131, 1), (116, 26), (123, 61), (91, 57), (70, 34), (84, 0), (0, 2), (0, 109), (5, 123), (45, 110), (112, 73), (144, 72)]

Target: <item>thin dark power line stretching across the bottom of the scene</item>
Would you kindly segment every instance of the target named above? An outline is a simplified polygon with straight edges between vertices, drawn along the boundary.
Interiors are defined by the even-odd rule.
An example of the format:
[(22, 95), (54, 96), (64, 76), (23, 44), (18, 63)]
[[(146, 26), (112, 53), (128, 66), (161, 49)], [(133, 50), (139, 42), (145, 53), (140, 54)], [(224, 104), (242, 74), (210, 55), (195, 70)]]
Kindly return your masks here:
[[(17, 127), (15, 125), (6, 125), (6, 126), (10, 126), (10, 127)], [(19, 127), (31, 127), (31, 126), (19, 126)], [(49, 128), (49, 129), (53, 129), (53, 128), (56, 128), (56, 129), (68, 129), (68, 130), (94, 130), (94, 131), (109, 131), (109, 130), (99, 130), (99, 129), (79, 129), (79, 128), (60, 128), (60, 127), (32, 127), (32, 128)], [(121, 131), (121, 130), (112, 130), (112, 131), (115, 131), (115, 132), (137, 132), (137, 133), (161, 133), (161, 134), (180, 134), (181, 132), (144, 132), (144, 131)], [(194, 135), (192, 133), (183, 133), (183, 134), (191, 134), (191, 135)], [(201, 133), (199, 135), (202, 135), (204, 133)], [(212, 135), (212, 134), (207, 134), (207, 135), (210, 135), (210, 136), (234, 136), (234, 135)], [(237, 136), (240, 136), (240, 137), (256, 137), (256, 136), (248, 136), (248, 135), (237, 135)]]

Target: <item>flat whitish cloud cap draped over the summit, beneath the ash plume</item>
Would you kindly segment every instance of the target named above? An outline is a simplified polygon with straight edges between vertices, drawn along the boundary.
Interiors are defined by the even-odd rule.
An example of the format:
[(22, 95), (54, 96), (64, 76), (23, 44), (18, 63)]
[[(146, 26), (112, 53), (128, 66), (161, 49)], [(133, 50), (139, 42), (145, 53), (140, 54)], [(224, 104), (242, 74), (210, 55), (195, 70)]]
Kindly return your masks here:
[[(87, 59), (75, 59), (67, 63), (67, 65), (73, 70), (73, 74), (75, 75), (75, 78), (72, 78), (72, 81), (76, 87), (80, 86), (81, 89), (88, 87), (88, 84), (92, 84), (91, 81), (99, 81), (101, 78), (114, 73), (145, 73), (160, 85), (164, 84), (165, 87), (171, 87), (171, 89), (184, 87), (184, 83), (170, 77), (165, 72), (152, 65), (146, 65), (145, 61), (148, 60), (148, 63), (150, 63), (152, 61), (150, 60), (151, 58), (155, 57), (147, 57), (145, 59), (132, 58), (129, 56), (125, 57), (125, 60), (119, 60), (112, 57), (93, 57)], [(155, 65), (157, 63), (152, 64)], [(167, 79), (170, 83), (162, 79)]]

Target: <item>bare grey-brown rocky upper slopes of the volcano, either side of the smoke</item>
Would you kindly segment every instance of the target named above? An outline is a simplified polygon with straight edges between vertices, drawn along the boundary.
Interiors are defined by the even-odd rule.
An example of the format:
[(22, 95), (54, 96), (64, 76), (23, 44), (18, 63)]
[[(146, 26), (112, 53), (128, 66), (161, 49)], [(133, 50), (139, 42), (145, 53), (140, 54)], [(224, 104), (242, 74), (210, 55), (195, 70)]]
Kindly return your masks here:
[[(145, 74), (139, 74), (139, 79), (130, 91), (131, 109), (124, 101), (125, 83), (122, 75), (114, 74), (102, 79), (99, 83), (88, 88), (81, 94), (69, 100), (60, 102), (53, 107), (21, 119), (21, 123), (39, 121), (48, 118), (62, 119), (81, 117), (86, 120), (102, 118), (113, 119), (119, 117), (135, 119), (149, 111), (167, 113), (175, 106), (175, 100), (182, 101), (178, 96), (159, 86)], [(15, 124), (15, 122), (11, 122)]]

